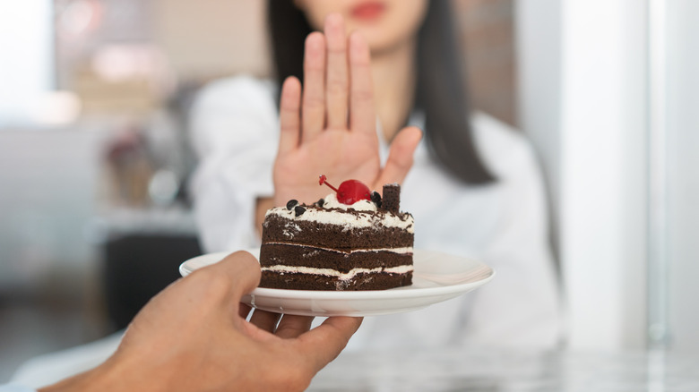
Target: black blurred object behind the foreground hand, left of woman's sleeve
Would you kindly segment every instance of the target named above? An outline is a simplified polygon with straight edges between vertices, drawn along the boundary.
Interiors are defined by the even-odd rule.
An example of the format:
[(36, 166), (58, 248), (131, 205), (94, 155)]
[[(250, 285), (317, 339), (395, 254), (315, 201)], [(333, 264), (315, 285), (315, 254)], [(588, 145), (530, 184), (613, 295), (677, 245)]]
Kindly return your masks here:
[(131, 234), (105, 244), (105, 296), (112, 331), (125, 328), (155, 294), (177, 280), (179, 265), (202, 254), (190, 235)]

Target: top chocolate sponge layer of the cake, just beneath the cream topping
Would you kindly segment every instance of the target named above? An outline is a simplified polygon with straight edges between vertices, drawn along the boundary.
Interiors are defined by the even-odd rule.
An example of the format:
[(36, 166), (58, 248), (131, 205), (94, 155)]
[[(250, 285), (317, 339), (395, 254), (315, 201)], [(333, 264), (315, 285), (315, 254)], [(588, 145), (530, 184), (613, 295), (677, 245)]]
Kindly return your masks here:
[(399, 227), (353, 227), (267, 216), (263, 243), (312, 243), (333, 249), (411, 247), (414, 234)]

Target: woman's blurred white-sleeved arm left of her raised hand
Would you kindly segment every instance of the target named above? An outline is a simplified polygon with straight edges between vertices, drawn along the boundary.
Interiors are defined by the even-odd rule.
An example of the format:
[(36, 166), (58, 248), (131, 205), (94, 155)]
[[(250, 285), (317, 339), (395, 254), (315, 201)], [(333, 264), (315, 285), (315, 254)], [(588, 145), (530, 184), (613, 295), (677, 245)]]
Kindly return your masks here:
[(200, 160), (191, 192), (206, 251), (257, 245), (258, 206), (269, 205), (258, 200), (273, 194), (279, 140), (273, 97), (271, 82), (237, 77), (203, 89), (194, 104), (190, 128)]

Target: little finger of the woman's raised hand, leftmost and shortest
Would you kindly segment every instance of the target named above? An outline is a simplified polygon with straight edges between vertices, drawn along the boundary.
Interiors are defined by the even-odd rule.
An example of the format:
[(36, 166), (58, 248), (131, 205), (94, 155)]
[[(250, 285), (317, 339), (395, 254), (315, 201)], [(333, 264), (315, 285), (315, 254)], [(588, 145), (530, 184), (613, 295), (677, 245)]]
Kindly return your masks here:
[(289, 76), (281, 86), (279, 154), (298, 147), (300, 139), (301, 82)]

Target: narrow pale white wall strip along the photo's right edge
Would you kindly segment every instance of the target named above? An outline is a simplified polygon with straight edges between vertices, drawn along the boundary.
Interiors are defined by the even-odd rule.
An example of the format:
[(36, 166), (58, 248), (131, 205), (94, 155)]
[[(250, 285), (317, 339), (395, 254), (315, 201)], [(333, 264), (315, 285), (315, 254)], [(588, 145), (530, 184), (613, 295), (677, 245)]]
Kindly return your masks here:
[(667, 2), (669, 328), (699, 352), (699, 2)]

